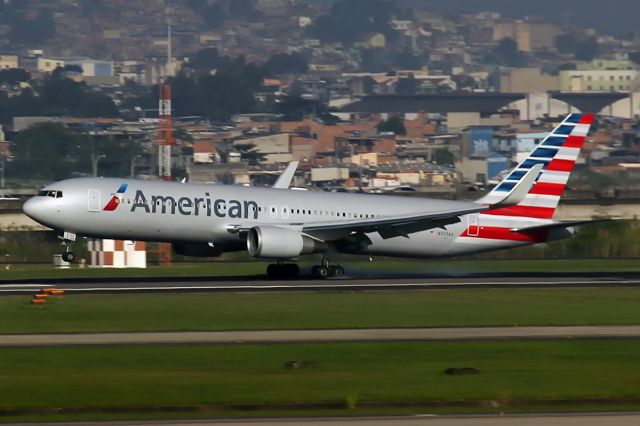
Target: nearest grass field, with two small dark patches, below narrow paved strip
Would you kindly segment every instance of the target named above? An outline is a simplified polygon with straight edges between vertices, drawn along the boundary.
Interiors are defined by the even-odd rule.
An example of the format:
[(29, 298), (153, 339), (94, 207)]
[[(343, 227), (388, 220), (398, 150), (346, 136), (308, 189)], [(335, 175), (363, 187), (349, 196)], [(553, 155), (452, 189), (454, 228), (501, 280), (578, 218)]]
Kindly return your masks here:
[[(637, 408), (639, 358), (638, 340), (3, 349), (0, 413), (60, 407), (104, 417), (164, 406), (215, 416), (239, 411), (236, 404), (282, 411), (333, 403), (326, 408), (355, 414), (367, 403), (434, 401), (475, 411), (486, 401), (494, 401), (490, 411)], [(285, 368), (291, 360), (309, 366)], [(449, 376), (448, 367), (479, 373)]]

